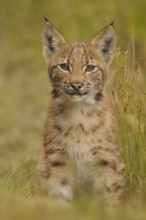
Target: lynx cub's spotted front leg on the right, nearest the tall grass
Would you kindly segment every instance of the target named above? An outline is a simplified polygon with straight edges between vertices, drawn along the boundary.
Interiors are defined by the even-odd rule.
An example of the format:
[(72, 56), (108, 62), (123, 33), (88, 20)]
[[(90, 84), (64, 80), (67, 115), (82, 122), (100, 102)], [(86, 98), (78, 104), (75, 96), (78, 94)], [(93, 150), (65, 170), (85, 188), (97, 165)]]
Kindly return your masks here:
[(125, 164), (120, 152), (111, 153), (103, 150), (94, 158), (92, 181), (97, 198), (116, 204), (121, 201), (125, 189)]

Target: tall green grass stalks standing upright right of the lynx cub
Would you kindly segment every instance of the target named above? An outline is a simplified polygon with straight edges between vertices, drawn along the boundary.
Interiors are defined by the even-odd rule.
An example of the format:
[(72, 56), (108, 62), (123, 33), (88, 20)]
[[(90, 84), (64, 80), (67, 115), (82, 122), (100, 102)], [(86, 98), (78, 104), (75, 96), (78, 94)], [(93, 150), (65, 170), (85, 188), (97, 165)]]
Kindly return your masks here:
[(128, 52), (117, 53), (115, 60), (113, 94), (119, 110), (128, 186), (131, 194), (142, 195), (146, 184), (146, 93), (142, 86), (144, 77), (139, 67), (135, 68), (130, 64)]

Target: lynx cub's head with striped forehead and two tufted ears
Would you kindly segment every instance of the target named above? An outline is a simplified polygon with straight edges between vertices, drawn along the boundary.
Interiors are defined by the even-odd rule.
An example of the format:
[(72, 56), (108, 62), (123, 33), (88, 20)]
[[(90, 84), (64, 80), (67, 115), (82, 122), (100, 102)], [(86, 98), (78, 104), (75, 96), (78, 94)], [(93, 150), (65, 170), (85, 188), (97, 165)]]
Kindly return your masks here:
[(90, 43), (68, 43), (46, 19), (43, 54), (48, 66), (53, 97), (90, 103), (102, 97), (115, 41), (115, 33), (110, 24)]

